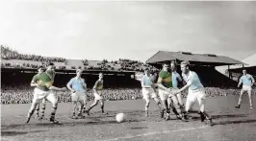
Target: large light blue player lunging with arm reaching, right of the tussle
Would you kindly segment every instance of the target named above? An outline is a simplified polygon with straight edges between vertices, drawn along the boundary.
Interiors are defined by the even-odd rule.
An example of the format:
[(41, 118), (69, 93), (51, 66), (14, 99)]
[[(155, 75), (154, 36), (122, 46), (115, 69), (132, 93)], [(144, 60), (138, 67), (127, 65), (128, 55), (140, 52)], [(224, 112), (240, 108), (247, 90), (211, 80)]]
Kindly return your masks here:
[(174, 94), (181, 93), (185, 89), (189, 88), (189, 94), (187, 97), (187, 102), (185, 106), (185, 118), (188, 120), (188, 113), (189, 110), (191, 109), (192, 105), (197, 101), (199, 103), (200, 107), (200, 117), (201, 117), (201, 122), (204, 122), (205, 118), (209, 120), (209, 124), (213, 126), (213, 121), (212, 117), (205, 111), (205, 89), (200, 82), (197, 74), (193, 71), (190, 70), (190, 62), (189, 61), (182, 61), (181, 62), (181, 71), (182, 71), (182, 76), (185, 82), (187, 84), (183, 86), (180, 90), (176, 91)]

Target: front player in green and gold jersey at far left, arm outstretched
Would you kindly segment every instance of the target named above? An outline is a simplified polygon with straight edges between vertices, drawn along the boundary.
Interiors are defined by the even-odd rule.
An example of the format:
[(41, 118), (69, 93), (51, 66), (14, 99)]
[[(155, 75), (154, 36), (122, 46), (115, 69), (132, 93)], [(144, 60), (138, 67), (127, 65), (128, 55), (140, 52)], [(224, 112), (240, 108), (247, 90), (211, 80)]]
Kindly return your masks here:
[(33, 115), (38, 103), (43, 99), (46, 98), (52, 104), (52, 111), (50, 116), (50, 122), (54, 124), (58, 124), (59, 122), (55, 119), (55, 113), (58, 107), (58, 98), (53, 90), (60, 90), (65, 91), (66, 87), (59, 88), (53, 86), (55, 77), (54, 71), (54, 63), (49, 63), (47, 70), (40, 74), (37, 74), (33, 77), (33, 82), (36, 82), (37, 88), (34, 90), (34, 98), (32, 102), (32, 106), (28, 112), (27, 122), (29, 123), (31, 116)]

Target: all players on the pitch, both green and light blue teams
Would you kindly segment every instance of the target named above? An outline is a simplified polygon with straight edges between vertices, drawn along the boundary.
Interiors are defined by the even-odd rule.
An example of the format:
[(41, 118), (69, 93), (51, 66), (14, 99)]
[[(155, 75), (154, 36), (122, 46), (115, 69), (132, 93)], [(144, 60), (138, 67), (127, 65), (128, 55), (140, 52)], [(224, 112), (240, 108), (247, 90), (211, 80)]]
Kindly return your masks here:
[[(205, 89), (202, 83), (200, 82), (197, 74), (193, 72), (190, 67), (191, 64), (189, 61), (182, 61), (181, 64), (182, 78), (177, 73), (177, 66), (175, 61), (171, 61), (170, 70), (167, 63), (163, 64), (163, 69), (158, 75), (157, 82), (152, 79), (150, 75), (150, 70), (145, 69), (144, 75), (141, 78), (141, 87), (142, 95), (145, 100), (145, 116), (148, 116), (148, 107), (150, 99), (154, 99), (157, 105), (161, 110), (161, 117), (166, 120), (169, 119), (170, 109), (176, 114), (176, 117), (184, 122), (188, 122), (188, 113), (192, 108), (193, 104), (197, 101), (199, 104), (199, 112), (201, 122), (204, 122), (207, 119), (207, 123), (213, 126), (212, 117), (205, 111)], [(54, 64), (49, 63), (46, 70), (43, 71), (43, 67), (38, 68), (38, 74), (33, 77), (31, 86), (36, 86), (34, 90), (34, 99), (32, 106), (28, 112), (27, 123), (29, 123), (35, 110), (37, 111), (38, 119), (44, 118), (45, 110), (45, 99), (47, 99), (52, 104), (50, 122), (59, 123), (55, 119), (55, 113), (58, 107), (58, 96), (54, 91), (66, 91), (66, 87), (71, 91), (71, 98), (73, 103), (72, 118), (77, 119), (78, 117), (84, 118), (83, 113), (90, 115), (90, 109), (94, 106), (97, 106), (100, 102), (101, 111), (104, 113), (104, 100), (102, 97), (103, 89), (103, 74), (99, 74), (99, 79), (95, 82), (93, 86), (93, 95), (94, 103), (86, 109), (85, 105), (87, 103), (87, 84), (84, 79), (81, 78), (83, 73), (82, 69), (76, 70), (76, 77), (72, 78), (67, 84), (66, 87), (59, 88), (53, 85), (55, 78)], [(182, 88), (178, 88), (178, 82), (186, 82)], [(246, 74), (243, 70), (243, 77), (240, 79), (239, 85), (243, 82), (243, 89), (241, 91), (241, 96), (239, 99), (239, 104), (236, 106), (240, 108), (243, 92), (247, 91), (249, 94), (250, 107), (253, 108), (251, 102), (251, 86), (253, 85), (253, 78)], [(159, 93), (157, 94), (156, 88), (158, 88)], [(186, 100), (186, 105), (182, 101), (181, 92), (185, 89), (189, 89), (189, 93)], [(162, 104), (159, 100), (162, 101)], [(41, 114), (38, 115), (39, 103), (42, 101)], [(76, 116), (76, 106), (77, 102), (80, 103), (80, 108), (78, 109), (78, 114)], [(166, 114), (166, 116), (165, 116)]]

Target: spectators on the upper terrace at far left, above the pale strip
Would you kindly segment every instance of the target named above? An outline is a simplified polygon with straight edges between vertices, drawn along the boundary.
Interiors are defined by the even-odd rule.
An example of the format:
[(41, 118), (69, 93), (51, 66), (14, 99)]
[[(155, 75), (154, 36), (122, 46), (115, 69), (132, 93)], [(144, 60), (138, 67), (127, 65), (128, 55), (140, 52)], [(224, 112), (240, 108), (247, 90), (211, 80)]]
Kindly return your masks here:
[(22, 60), (35, 60), (35, 61), (42, 61), (42, 62), (48, 62), (48, 61), (58, 61), (58, 62), (64, 62), (65, 59), (63, 58), (46, 58), (42, 56), (37, 55), (25, 55), (25, 54), (19, 54), (17, 51), (14, 51), (8, 47), (5, 47), (1, 45), (1, 59), (22, 59)]

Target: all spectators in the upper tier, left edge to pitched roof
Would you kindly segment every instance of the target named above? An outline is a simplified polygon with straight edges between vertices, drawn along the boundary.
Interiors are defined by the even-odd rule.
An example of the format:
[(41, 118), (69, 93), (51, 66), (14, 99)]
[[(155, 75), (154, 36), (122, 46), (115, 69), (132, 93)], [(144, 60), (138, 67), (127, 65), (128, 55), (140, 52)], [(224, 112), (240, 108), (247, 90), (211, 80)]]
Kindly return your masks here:
[[(41, 62), (40, 65), (45, 65), (51, 61), (64, 62), (64, 65), (58, 66), (57, 69), (77, 69), (76, 66), (68, 66), (68, 60), (63, 58), (46, 58), (37, 55), (24, 55), (19, 54), (17, 51), (14, 51), (8, 47), (4, 47), (1, 45), (1, 59), (21, 59), (21, 60), (33, 60)], [(88, 59), (82, 59), (82, 63), (84, 64), (84, 68), (88, 70), (105, 70), (105, 71), (137, 71), (142, 72), (144, 68), (149, 68), (151, 70), (158, 70), (157, 68), (145, 64), (138, 60), (130, 60), (130, 59), (118, 59), (113, 61), (108, 61), (107, 59), (103, 59), (98, 62), (97, 65), (91, 65)], [(68, 66), (68, 67), (67, 67)], [(38, 64), (32, 64), (28, 62), (20, 63), (10, 63), (5, 62), (1, 63), (2, 68), (38, 68)], [(80, 66), (81, 67), (81, 66)]]

